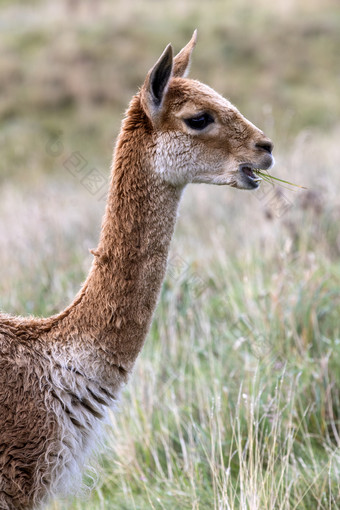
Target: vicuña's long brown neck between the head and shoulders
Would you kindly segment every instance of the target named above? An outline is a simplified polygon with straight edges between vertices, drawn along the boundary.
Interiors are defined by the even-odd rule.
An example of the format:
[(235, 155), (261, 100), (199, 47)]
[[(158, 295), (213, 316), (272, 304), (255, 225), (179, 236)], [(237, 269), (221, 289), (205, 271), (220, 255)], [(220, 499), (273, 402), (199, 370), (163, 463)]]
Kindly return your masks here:
[(136, 97), (117, 143), (95, 259), (63, 319), (69, 335), (90, 339), (125, 370), (149, 329), (181, 196), (154, 172), (153, 146)]

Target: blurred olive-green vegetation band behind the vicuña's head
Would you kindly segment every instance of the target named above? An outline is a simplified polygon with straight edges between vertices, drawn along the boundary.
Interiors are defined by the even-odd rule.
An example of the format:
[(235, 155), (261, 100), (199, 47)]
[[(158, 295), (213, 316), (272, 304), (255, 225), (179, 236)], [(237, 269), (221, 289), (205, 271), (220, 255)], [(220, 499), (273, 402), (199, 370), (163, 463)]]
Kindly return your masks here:
[[(191, 76), (227, 96), (276, 143), (340, 117), (340, 6), (148, 0), (2, 2), (0, 179), (37, 171), (32, 153), (61, 130), (97, 164), (131, 95), (165, 45), (198, 28)], [(22, 164), (22, 160), (28, 164)], [(45, 158), (45, 172), (55, 171)], [(34, 170), (35, 169), (35, 170)]]

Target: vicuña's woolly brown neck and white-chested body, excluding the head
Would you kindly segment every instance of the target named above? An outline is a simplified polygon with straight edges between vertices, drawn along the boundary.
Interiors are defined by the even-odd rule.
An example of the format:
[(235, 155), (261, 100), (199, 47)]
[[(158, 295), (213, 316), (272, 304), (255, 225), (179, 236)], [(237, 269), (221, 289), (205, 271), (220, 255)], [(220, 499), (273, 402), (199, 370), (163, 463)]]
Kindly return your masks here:
[[(80, 483), (99, 424), (143, 346), (181, 196), (153, 171), (152, 136), (136, 96), (92, 268), (73, 303), (47, 319), (0, 316), (0, 384), (8, 389), (0, 398), (1, 509), (35, 508), (68, 492), (75, 477)], [(18, 381), (26, 393), (13, 402)], [(28, 414), (26, 402), (34, 402)], [(13, 443), (22, 445), (15, 456)]]

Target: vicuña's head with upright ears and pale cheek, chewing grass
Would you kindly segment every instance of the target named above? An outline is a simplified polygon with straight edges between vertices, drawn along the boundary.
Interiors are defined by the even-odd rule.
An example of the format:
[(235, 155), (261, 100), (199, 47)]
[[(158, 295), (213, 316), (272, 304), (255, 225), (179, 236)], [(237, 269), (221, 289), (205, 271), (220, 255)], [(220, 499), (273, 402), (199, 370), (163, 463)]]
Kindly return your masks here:
[(173, 58), (167, 46), (141, 90), (155, 134), (155, 171), (175, 186), (188, 183), (255, 189), (253, 169), (273, 165), (271, 141), (226, 99), (186, 78), (196, 31)]

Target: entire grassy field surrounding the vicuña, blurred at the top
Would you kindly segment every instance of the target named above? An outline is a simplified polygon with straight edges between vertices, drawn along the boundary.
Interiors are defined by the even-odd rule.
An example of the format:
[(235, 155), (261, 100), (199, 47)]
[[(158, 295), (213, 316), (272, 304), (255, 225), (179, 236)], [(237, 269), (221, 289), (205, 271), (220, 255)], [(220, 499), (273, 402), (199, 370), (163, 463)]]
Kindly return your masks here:
[[(340, 509), (338, 3), (2, 0), (0, 23), (0, 309), (71, 301), (123, 111), (196, 27), (191, 75), (271, 136), (274, 175), (308, 188), (187, 189), (106, 443), (83, 493), (50, 510)], [(74, 152), (101, 193), (68, 171)]]

